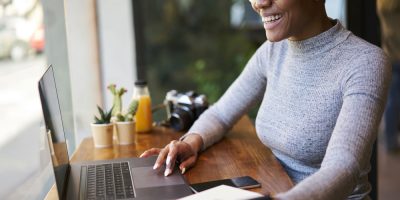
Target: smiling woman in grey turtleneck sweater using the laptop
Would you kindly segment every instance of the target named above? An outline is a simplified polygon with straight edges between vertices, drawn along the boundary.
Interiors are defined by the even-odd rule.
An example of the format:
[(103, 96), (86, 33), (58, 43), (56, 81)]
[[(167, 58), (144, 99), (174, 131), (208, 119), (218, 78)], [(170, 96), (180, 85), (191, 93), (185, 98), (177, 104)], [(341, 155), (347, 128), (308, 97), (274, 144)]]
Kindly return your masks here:
[[(381, 49), (327, 17), (320, 0), (252, 0), (266, 41), (226, 93), (180, 141), (153, 148), (165, 175), (184, 173), (262, 100), (260, 140), (296, 184), (276, 199), (369, 199), (372, 145), (391, 69)], [(232, 147), (234, 148), (234, 147)]]

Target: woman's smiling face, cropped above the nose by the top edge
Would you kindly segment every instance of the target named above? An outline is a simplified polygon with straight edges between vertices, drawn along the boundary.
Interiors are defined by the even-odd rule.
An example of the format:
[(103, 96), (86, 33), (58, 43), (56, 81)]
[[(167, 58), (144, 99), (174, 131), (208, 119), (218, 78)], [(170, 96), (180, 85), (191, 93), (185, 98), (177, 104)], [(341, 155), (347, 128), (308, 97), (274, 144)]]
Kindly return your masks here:
[[(313, 36), (320, 5), (316, 0), (250, 0), (260, 14), (269, 41), (303, 40)], [(322, 3), (323, 4), (323, 3)], [(317, 17), (318, 16), (318, 17)]]

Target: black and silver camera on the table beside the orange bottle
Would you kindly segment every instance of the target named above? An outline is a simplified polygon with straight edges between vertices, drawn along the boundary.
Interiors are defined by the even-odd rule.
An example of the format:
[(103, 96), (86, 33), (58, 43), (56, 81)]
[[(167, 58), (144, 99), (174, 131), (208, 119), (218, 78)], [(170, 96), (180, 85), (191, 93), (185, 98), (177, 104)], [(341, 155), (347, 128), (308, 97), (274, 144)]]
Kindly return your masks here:
[(193, 91), (182, 94), (171, 90), (167, 92), (164, 103), (170, 126), (176, 131), (187, 131), (208, 108), (207, 97)]

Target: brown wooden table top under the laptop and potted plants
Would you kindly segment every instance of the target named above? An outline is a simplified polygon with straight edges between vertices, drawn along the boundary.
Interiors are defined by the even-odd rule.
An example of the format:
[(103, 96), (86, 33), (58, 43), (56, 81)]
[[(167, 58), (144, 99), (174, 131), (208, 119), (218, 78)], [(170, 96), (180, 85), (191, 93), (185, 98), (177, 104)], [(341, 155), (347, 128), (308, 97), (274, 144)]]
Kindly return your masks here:
[[(138, 157), (152, 147), (164, 147), (183, 135), (165, 127), (150, 133), (138, 133), (136, 144), (95, 148), (92, 138), (86, 138), (73, 154), (71, 162)], [(293, 183), (272, 152), (257, 138), (255, 128), (247, 116), (242, 117), (225, 138), (202, 152), (196, 165), (185, 173), (189, 183), (252, 176), (262, 185), (251, 189), (261, 194), (289, 190)]]

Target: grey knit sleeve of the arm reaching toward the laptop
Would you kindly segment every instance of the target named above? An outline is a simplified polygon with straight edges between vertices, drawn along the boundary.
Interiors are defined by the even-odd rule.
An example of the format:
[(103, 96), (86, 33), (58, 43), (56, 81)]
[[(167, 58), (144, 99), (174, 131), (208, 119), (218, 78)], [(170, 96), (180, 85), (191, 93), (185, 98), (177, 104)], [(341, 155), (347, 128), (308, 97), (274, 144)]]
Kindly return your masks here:
[(267, 69), (262, 59), (267, 55), (266, 51), (265, 43), (252, 56), (225, 94), (199, 117), (182, 139), (197, 134), (202, 138), (204, 150), (219, 141), (224, 133), (262, 98), (267, 84)]

